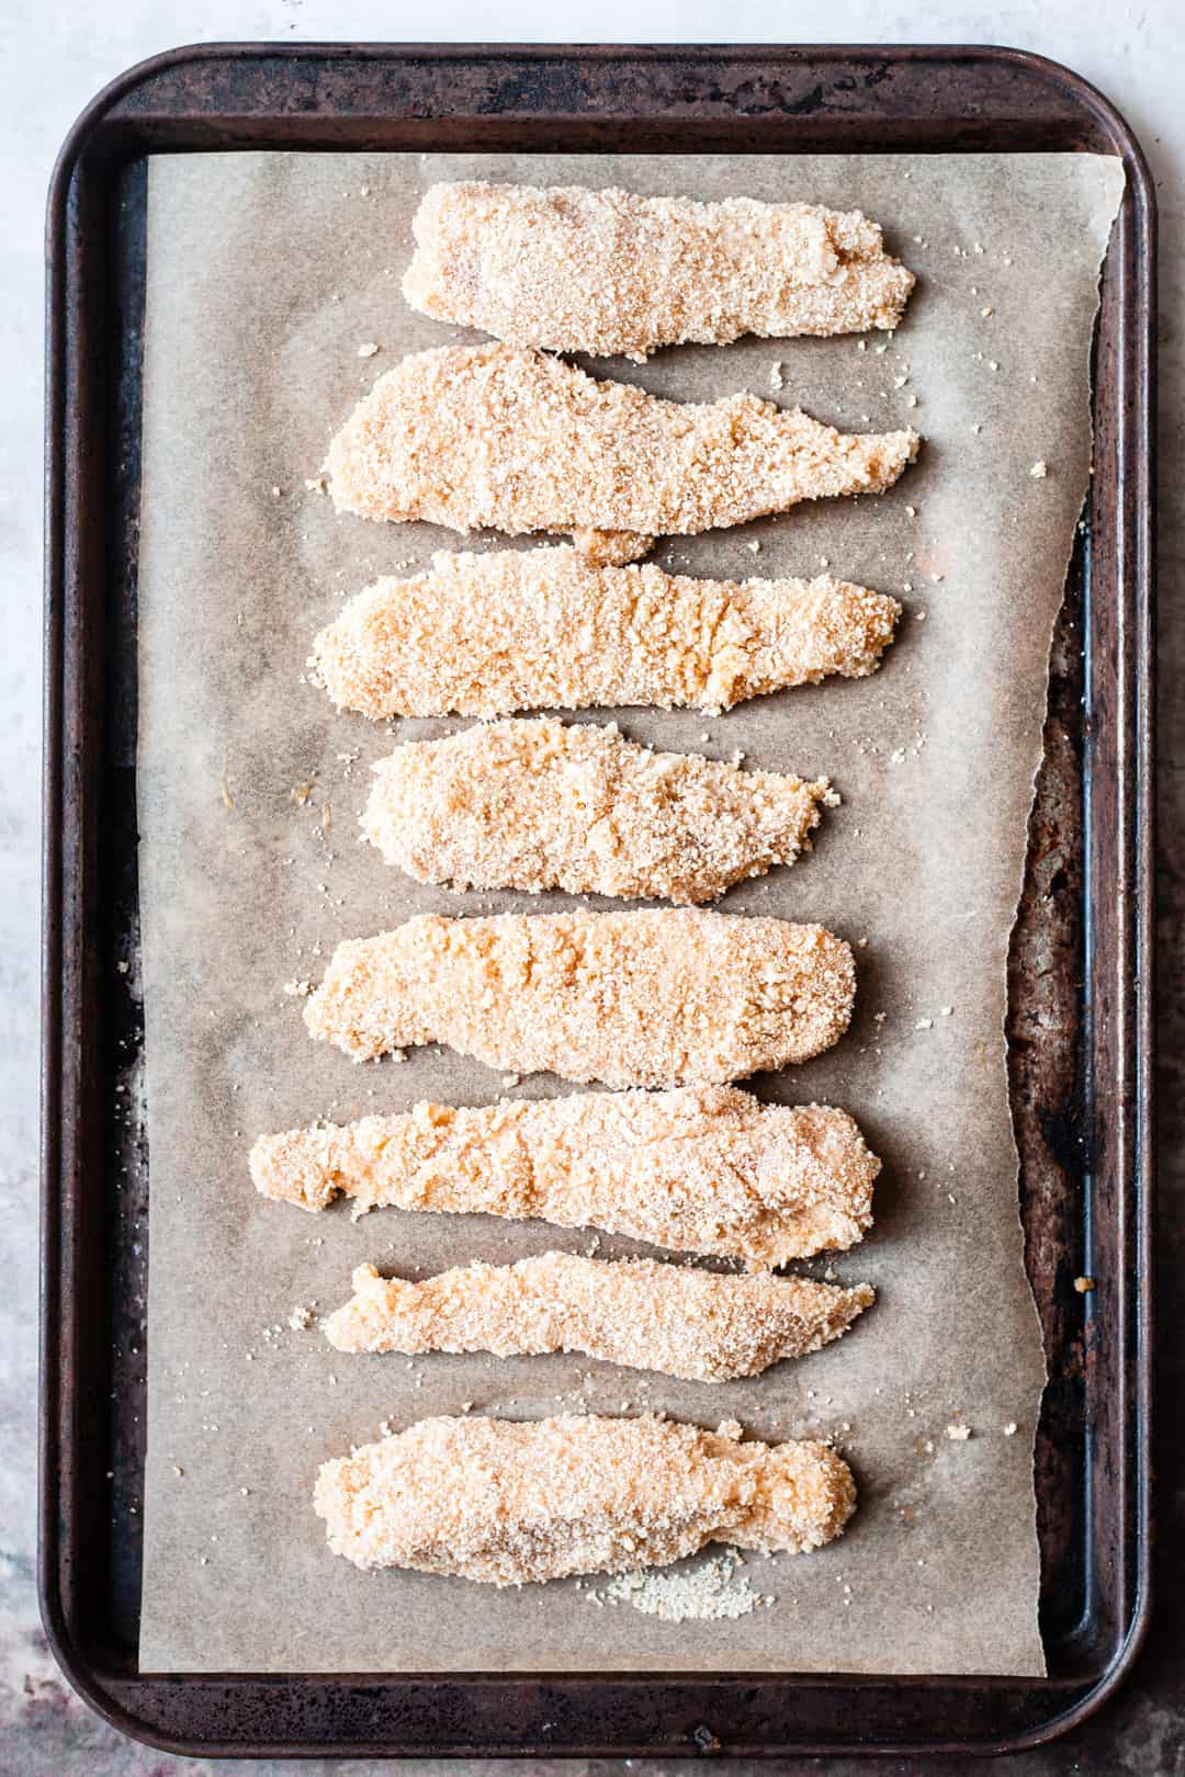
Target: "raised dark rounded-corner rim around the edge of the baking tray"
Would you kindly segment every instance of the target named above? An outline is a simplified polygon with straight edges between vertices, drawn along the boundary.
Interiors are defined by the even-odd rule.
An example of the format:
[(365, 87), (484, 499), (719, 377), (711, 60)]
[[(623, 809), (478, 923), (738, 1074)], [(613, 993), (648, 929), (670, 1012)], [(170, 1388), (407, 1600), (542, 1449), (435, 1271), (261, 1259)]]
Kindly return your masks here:
[[(1126, 1114), (1133, 1121), (1133, 1146), (1132, 1146), (1132, 1167), (1130, 1183), (1135, 1187), (1135, 1253), (1144, 1256), (1144, 1263), (1139, 1267), (1137, 1279), (1137, 1303), (1135, 1303), (1135, 1326), (1132, 1335), (1132, 1358), (1135, 1372), (1133, 1386), (1133, 1406), (1137, 1409), (1137, 1436), (1133, 1448), (1135, 1462), (1135, 1484), (1133, 1484), (1133, 1510), (1135, 1510), (1135, 1557), (1133, 1557), (1133, 1601), (1132, 1614), (1126, 1624), (1126, 1631), (1112, 1653), (1105, 1670), (1098, 1681), (1080, 1695), (1070, 1708), (1055, 1709), (1052, 1715), (1043, 1717), (1039, 1722), (1027, 1727), (1020, 1727), (1013, 1733), (995, 1736), (982, 1741), (942, 1741), (936, 1738), (919, 1740), (919, 1741), (892, 1741), (881, 1745), (869, 1743), (833, 1743), (833, 1741), (794, 1741), (792, 1749), (787, 1747), (766, 1747), (762, 1752), (776, 1756), (785, 1750), (792, 1750), (796, 1756), (849, 1756), (856, 1752), (892, 1752), (895, 1756), (927, 1754), (942, 1750), (961, 1750), (965, 1754), (998, 1754), (1006, 1750), (1022, 1750), (1027, 1747), (1041, 1745), (1093, 1715), (1125, 1681), (1135, 1661), (1139, 1649), (1146, 1638), (1149, 1614), (1151, 1614), (1151, 1450), (1149, 1450), (1149, 1407), (1151, 1407), (1151, 1272), (1148, 1267), (1149, 1240), (1151, 1240), (1151, 1210), (1153, 1210), (1153, 1150), (1151, 1150), (1151, 1096), (1153, 1096), (1153, 997), (1151, 997), (1151, 968), (1144, 967), (1146, 960), (1151, 958), (1151, 915), (1153, 915), (1153, 883), (1149, 874), (1151, 848), (1155, 841), (1155, 757), (1153, 757), (1153, 713), (1155, 713), (1155, 563), (1151, 556), (1151, 537), (1155, 531), (1155, 478), (1149, 476), (1151, 464), (1151, 421), (1155, 410), (1155, 238), (1157, 238), (1157, 201), (1151, 176), (1142, 155), (1142, 149), (1128, 128), (1126, 121), (1116, 110), (1116, 107), (1089, 82), (1064, 68), (1062, 64), (1050, 60), (1046, 57), (1034, 55), (1025, 50), (1014, 50), (993, 44), (471, 44), (471, 43), (449, 43), (449, 44), (407, 44), (407, 43), (195, 43), (185, 44), (176, 50), (165, 50), (153, 55), (142, 62), (137, 62), (119, 76), (115, 76), (108, 85), (105, 85), (82, 110), (76, 123), (69, 130), (62, 149), (59, 153), (48, 195), (46, 211), (46, 259), (48, 259), (48, 277), (46, 277), (46, 547), (44, 547), (44, 597), (46, 597), (46, 641), (44, 641), (44, 705), (43, 705), (43, 759), (44, 759), (44, 825), (43, 825), (43, 1047), (41, 1047), (41, 1105), (43, 1105), (43, 1128), (41, 1128), (41, 1427), (39, 1427), (39, 1548), (37, 1548), (37, 1590), (41, 1603), (41, 1615), (50, 1647), (66, 1672), (71, 1685), (87, 1699), (87, 1702), (114, 1727), (123, 1733), (131, 1734), (160, 1750), (171, 1750), (179, 1754), (194, 1754), (206, 1757), (233, 1757), (233, 1756), (327, 1756), (341, 1754), (346, 1756), (407, 1756), (428, 1754), (433, 1749), (426, 1745), (405, 1749), (393, 1749), (391, 1741), (370, 1743), (370, 1741), (341, 1741), (336, 1747), (330, 1743), (309, 1743), (309, 1741), (210, 1741), (194, 1738), (178, 1738), (158, 1733), (149, 1724), (139, 1720), (139, 1717), (124, 1704), (117, 1702), (110, 1690), (103, 1685), (103, 1674), (98, 1667), (89, 1661), (84, 1647), (75, 1640), (66, 1624), (66, 1612), (62, 1606), (60, 1592), (60, 1571), (57, 1564), (57, 1480), (59, 1480), (59, 1425), (55, 1418), (57, 1397), (60, 1388), (60, 1340), (59, 1326), (62, 1315), (62, 1297), (60, 1297), (60, 1276), (59, 1276), (59, 1242), (60, 1242), (60, 1151), (59, 1137), (62, 1132), (62, 1112), (64, 1112), (64, 1095), (62, 1095), (62, 926), (66, 913), (66, 896), (69, 892), (68, 871), (64, 869), (64, 858), (60, 855), (59, 841), (62, 832), (62, 809), (64, 809), (64, 778), (71, 766), (71, 761), (64, 759), (62, 743), (62, 670), (64, 670), (64, 602), (66, 602), (66, 538), (68, 524), (71, 514), (68, 510), (66, 494), (66, 458), (68, 458), (68, 370), (66, 370), (66, 352), (68, 352), (68, 290), (66, 290), (66, 240), (69, 229), (69, 190), (75, 171), (84, 151), (91, 146), (101, 123), (107, 119), (123, 100), (135, 94), (139, 87), (153, 80), (156, 75), (192, 68), (201, 62), (226, 62), (227, 59), (236, 60), (359, 60), (359, 62), (410, 62), (414, 59), (432, 59), (433, 62), (449, 60), (521, 60), (542, 64), (549, 60), (583, 60), (583, 62), (661, 62), (670, 59), (680, 59), (688, 62), (712, 60), (712, 59), (746, 59), (755, 62), (785, 62), (787, 59), (799, 64), (837, 64), (853, 60), (904, 60), (913, 62), (943, 62), (950, 59), (981, 59), (988, 64), (1011, 66), (1023, 69), (1038, 78), (1045, 80), (1068, 94), (1082, 110), (1089, 112), (1091, 117), (1103, 128), (1103, 131), (1114, 140), (1116, 151), (1123, 155), (1128, 185), (1135, 203), (1135, 210), (1141, 220), (1142, 240), (1148, 243), (1146, 263), (1137, 268), (1137, 281), (1141, 286), (1141, 295), (1144, 297), (1144, 311), (1148, 315), (1148, 327), (1141, 327), (1139, 332), (1139, 391), (1137, 391), (1137, 414), (1132, 421), (1137, 432), (1137, 480), (1141, 482), (1142, 496), (1142, 517), (1135, 522), (1135, 574), (1139, 586), (1146, 588), (1146, 597), (1139, 595), (1139, 586), (1135, 594), (1135, 670), (1133, 670), (1133, 695), (1137, 707), (1132, 721), (1132, 762), (1125, 787), (1133, 793), (1133, 830), (1132, 844), (1135, 855), (1135, 908), (1133, 908), (1133, 958), (1135, 958), (1135, 983), (1139, 983), (1139, 992), (1132, 993), (1132, 1020), (1133, 1020), (1133, 1040), (1135, 1040), (1135, 1077), (1132, 1102), (1125, 1107)], [(153, 114), (146, 114), (153, 116)], [(547, 114), (554, 119), (565, 116), (561, 112)], [(314, 114), (309, 114), (309, 123), (314, 124)], [(313, 133), (313, 130), (309, 131)], [(195, 144), (197, 147), (199, 144)], [(808, 144), (805, 144), (808, 149)], [(309, 142), (309, 151), (325, 151), (323, 144)], [(332, 151), (332, 147), (330, 147)], [(926, 151), (926, 149), (919, 149)], [(931, 149), (942, 153), (942, 146)], [(959, 151), (947, 147), (945, 151)], [(974, 151), (974, 149), (963, 149)], [(76, 418), (76, 416), (75, 416)], [(78, 761), (73, 761), (78, 768)], [(1084, 896), (1086, 901), (1086, 896)], [(1089, 903), (1086, 903), (1089, 906)], [(69, 1082), (73, 1088), (78, 1080)], [(66, 1095), (69, 1098), (69, 1093)], [(647, 1674), (229, 1674), (226, 1677), (213, 1674), (137, 1674), (133, 1683), (194, 1683), (201, 1679), (206, 1685), (233, 1685), (240, 1683), (268, 1683), (284, 1685), (295, 1683), (302, 1685), (309, 1679), (318, 1683), (338, 1683), (338, 1685), (362, 1685), (375, 1688), (377, 1685), (430, 1685), (435, 1688), (448, 1686), (471, 1686), (471, 1685), (505, 1685), (512, 1679), (529, 1681), (537, 1677), (540, 1683), (563, 1683), (570, 1688), (588, 1688), (592, 1685), (604, 1685), (606, 1679), (622, 1685), (677, 1685), (679, 1679), (695, 1679), (696, 1683), (711, 1686), (714, 1679), (723, 1690), (727, 1685), (743, 1683), (746, 1679), (762, 1681), (782, 1681), (789, 1686), (794, 1685), (812, 1685), (821, 1690), (860, 1690), (860, 1688), (892, 1688), (892, 1690), (924, 1690), (934, 1685), (950, 1685), (965, 1690), (993, 1690), (1009, 1681), (997, 1676), (970, 1676), (970, 1677), (950, 1677), (947, 1674), (917, 1674), (917, 1676), (883, 1676), (883, 1674), (666, 1674), (666, 1672), (647, 1672)], [(1027, 1688), (1034, 1692), (1048, 1692), (1050, 1699), (1057, 1692), (1080, 1690), (1080, 1679), (1025, 1679)], [(549, 1756), (563, 1752), (567, 1756), (645, 1756), (648, 1750), (656, 1750), (654, 1743), (648, 1745), (613, 1745), (604, 1743), (595, 1745), (576, 1745), (565, 1743), (563, 1747), (547, 1745), (545, 1741), (533, 1741), (519, 1747), (490, 1747), (481, 1741), (473, 1745), (455, 1745), (448, 1752), (435, 1749), (433, 1756)], [(668, 1749), (670, 1750), (670, 1749)], [(691, 1750), (691, 1749), (688, 1749)]]

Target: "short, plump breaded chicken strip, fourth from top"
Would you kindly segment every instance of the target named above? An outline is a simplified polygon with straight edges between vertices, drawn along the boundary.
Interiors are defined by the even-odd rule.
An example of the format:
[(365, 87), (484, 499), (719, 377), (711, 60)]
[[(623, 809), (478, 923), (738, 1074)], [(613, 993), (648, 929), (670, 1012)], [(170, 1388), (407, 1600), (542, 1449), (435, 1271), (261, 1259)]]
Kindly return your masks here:
[(375, 766), (362, 832), (418, 881), (716, 901), (810, 849), (826, 778), (659, 753), (609, 727), (497, 721)]

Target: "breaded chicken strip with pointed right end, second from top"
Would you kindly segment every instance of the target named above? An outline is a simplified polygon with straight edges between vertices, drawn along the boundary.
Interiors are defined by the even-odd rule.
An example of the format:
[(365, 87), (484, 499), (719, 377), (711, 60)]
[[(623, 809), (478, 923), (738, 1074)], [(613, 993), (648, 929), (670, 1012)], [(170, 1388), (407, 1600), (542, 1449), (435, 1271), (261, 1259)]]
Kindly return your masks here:
[[(847, 435), (757, 394), (664, 402), (542, 352), (483, 345), (389, 370), (325, 469), (339, 512), (567, 531), (602, 549), (585, 533), (695, 535), (799, 499), (883, 492), (917, 450), (915, 432)], [(609, 547), (620, 562), (622, 538)]]

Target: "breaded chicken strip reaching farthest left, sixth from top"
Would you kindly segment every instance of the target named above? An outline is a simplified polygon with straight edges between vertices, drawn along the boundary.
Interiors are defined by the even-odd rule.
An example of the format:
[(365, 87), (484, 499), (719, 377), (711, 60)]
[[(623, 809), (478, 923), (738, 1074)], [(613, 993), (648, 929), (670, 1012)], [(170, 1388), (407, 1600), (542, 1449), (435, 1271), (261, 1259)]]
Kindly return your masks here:
[(604, 1228), (752, 1271), (856, 1246), (881, 1162), (846, 1111), (767, 1105), (736, 1086), (588, 1093), (261, 1136), (266, 1198)]

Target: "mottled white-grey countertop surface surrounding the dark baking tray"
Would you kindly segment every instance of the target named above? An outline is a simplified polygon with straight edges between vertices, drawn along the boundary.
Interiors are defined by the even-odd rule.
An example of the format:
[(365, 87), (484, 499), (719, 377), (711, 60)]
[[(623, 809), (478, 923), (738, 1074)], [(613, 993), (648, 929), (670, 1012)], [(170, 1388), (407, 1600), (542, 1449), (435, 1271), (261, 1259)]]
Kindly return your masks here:
[[(1162, 226), (1160, 322), (1160, 782), (1162, 782), (1162, 1363), (1169, 1390), (1180, 1390), (1185, 1285), (1185, 1008), (1180, 988), (1180, 935), (1185, 924), (1185, 782), (1178, 759), (1185, 743), (1185, 700), (1176, 695), (1173, 661), (1185, 645), (1178, 597), (1185, 551), (1185, 496), (1180, 490), (1181, 284), (1185, 249), (1185, 7), (1180, 0), (1116, 0), (1084, 7), (1080, 0), (1034, 5), (961, 5), (920, 11), (872, 0), (597, 0), (592, 11), (563, 20), (567, 41), (599, 43), (1004, 43), (1066, 62), (1119, 107), (1153, 167)], [(36, 1548), (36, 1237), (37, 1237), (37, 894), (39, 894), (39, 727), (41, 727), (41, 231), (50, 167), (66, 130), (87, 100), (133, 62), (192, 41), (556, 41), (556, 11), (542, 0), (512, 0), (492, 9), (478, 0), (444, 0), (430, 20), (380, 0), (7, 0), (0, 9), (9, 82), (0, 142), (7, 213), (0, 352), (9, 410), (2, 441), (0, 560), (7, 586), (7, 634), (0, 652), (4, 785), (0, 812), (0, 1777), (163, 1777), (165, 1772), (245, 1770), (174, 1759), (124, 1740), (80, 1704), (46, 1651), (34, 1587)], [(1169, 979), (1174, 968), (1176, 981)], [(1176, 1002), (1171, 1004), (1171, 993)], [(1173, 1439), (1180, 1452), (1180, 1436)], [(1167, 1466), (1162, 1457), (1162, 1468)], [(1180, 1462), (1176, 1464), (1180, 1473)], [(1167, 1489), (1162, 1500), (1160, 1560), (1181, 1564), (1185, 1507)], [(1176, 1516), (1174, 1516), (1176, 1510)], [(1178, 1592), (1164, 1585), (1165, 1594)], [(1121, 1770), (1185, 1773), (1183, 1608), (1165, 1596), (1133, 1681), (1086, 1731), (1070, 1741), (1006, 1759), (997, 1770), (1082, 1772), (1112, 1777)], [(691, 1768), (693, 1761), (686, 1761)], [(599, 1765), (624, 1770), (629, 1761)], [(297, 1763), (259, 1763), (261, 1773), (309, 1770)], [(378, 1770), (359, 1761), (329, 1761), (322, 1770)], [(384, 1766), (389, 1768), (389, 1766)], [(446, 1761), (416, 1761), (418, 1773), (458, 1770)], [(526, 1765), (471, 1763), (471, 1772), (499, 1777)], [(533, 1772), (544, 1766), (535, 1763)], [(574, 1773), (585, 1761), (549, 1765)], [(654, 1766), (657, 1768), (657, 1766)], [(682, 1770), (663, 1763), (664, 1772)], [(819, 1768), (812, 1761), (812, 1768)], [(855, 1770), (830, 1763), (828, 1772)], [(865, 1766), (867, 1768), (867, 1766)], [(906, 1770), (895, 1765), (895, 1770)], [(949, 1770), (956, 1770), (950, 1765)], [(927, 1765), (929, 1773), (947, 1770)]]

